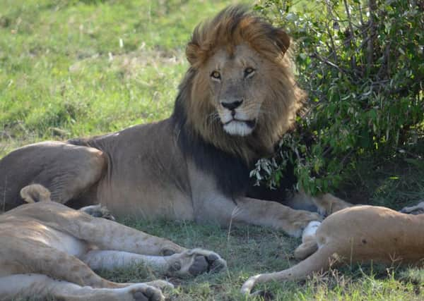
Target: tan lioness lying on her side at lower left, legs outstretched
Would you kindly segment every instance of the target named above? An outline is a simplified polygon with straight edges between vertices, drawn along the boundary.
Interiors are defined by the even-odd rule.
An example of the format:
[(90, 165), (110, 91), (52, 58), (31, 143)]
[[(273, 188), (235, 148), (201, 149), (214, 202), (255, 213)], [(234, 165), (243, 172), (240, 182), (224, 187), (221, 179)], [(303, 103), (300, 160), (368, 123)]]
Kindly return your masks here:
[(0, 300), (163, 300), (160, 288), (172, 287), (166, 281), (114, 283), (92, 269), (143, 264), (162, 274), (191, 276), (226, 266), (214, 252), (187, 250), (50, 202), (41, 185), (23, 188), (21, 195), (30, 204), (0, 215)]

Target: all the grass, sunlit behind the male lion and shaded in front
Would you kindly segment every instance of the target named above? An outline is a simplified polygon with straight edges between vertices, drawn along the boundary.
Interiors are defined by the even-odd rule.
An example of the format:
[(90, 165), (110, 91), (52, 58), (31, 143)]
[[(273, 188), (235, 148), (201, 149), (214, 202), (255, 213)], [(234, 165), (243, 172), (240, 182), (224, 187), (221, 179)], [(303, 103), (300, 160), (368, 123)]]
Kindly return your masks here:
[[(0, 157), (30, 142), (97, 135), (169, 116), (194, 25), (227, 4), (0, 0)], [(424, 199), (424, 166), (416, 152), (389, 162), (365, 160), (338, 195), (395, 209)], [(299, 243), (253, 226), (229, 231), (194, 223), (123, 222), (227, 259), (226, 272), (169, 279), (177, 284), (167, 294), (170, 300), (245, 300), (239, 294), (243, 281), (295, 264)], [(158, 277), (142, 266), (101, 274), (115, 281)], [(367, 265), (259, 288), (276, 300), (423, 300), (423, 280), (419, 269)]]

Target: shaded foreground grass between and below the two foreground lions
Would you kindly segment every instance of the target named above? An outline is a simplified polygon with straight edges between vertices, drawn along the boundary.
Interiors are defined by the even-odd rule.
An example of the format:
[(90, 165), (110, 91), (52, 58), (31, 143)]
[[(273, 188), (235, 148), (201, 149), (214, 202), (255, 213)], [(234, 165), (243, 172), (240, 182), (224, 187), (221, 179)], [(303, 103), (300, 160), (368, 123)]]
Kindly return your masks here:
[[(245, 226), (222, 229), (194, 223), (171, 221), (123, 221), (154, 235), (169, 238), (187, 247), (216, 250), (228, 261), (228, 271), (192, 279), (168, 278), (177, 285), (170, 300), (247, 300), (240, 295), (242, 283), (252, 274), (278, 271), (295, 264), (293, 250), (298, 240), (269, 228)], [(150, 281), (158, 278), (143, 266), (102, 276), (114, 281)], [(257, 290), (266, 292), (266, 300), (423, 300), (424, 271), (382, 265), (344, 266), (308, 281), (266, 283)], [(257, 297), (254, 300), (261, 300)]]

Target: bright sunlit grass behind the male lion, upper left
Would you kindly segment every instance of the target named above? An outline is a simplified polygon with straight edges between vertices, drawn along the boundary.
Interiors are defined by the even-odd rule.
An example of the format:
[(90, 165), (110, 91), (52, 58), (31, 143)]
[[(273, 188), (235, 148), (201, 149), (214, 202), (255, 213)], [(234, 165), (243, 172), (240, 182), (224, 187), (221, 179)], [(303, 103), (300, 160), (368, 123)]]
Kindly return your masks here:
[(194, 25), (229, 3), (1, 0), (0, 155), (169, 116)]

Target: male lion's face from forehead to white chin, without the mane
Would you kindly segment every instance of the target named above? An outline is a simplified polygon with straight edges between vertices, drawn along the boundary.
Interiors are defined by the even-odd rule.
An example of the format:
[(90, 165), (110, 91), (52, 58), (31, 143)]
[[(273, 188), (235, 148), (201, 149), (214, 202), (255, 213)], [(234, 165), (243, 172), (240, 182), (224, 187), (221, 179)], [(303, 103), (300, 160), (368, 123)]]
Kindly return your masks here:
[[(261, 113), (265, 94), (264, 59), (246, 44), (232, 54), (220, 49), (208, 60), (202, 72), (208, 76), (210, 101), (223, 129), (230, 135), (252, 133)], [(265, 67), (265, 68), (264, 68)]]

